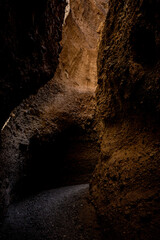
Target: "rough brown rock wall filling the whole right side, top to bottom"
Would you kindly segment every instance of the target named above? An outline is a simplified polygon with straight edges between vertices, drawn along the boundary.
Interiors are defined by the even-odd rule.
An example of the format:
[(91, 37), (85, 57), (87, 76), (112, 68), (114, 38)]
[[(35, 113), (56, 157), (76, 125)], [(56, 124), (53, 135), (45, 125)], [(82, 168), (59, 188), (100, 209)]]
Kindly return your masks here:
[(91, 183), (107, 239), (160, 238), (159, 13), (158, 0), (109, 2), (98, 56), (101, 158)]

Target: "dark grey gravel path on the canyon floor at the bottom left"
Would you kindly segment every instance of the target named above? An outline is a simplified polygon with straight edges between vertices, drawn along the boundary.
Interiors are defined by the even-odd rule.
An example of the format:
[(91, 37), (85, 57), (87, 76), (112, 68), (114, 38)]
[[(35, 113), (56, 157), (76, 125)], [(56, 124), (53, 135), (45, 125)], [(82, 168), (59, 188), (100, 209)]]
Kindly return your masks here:
[(42, 192), (13, 204), (0, 240), (100, 240), (88, 184)]

